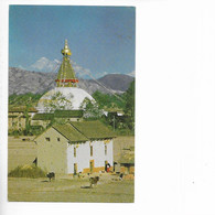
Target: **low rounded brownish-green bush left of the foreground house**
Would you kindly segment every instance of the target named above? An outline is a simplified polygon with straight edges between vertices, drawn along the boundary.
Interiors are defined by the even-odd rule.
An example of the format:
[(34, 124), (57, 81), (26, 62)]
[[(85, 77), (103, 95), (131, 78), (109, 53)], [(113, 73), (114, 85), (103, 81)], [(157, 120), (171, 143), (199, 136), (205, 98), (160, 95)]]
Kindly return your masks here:
[(44, 178), (46, 176), (45, 172), (35, 165), (19, 165), (11, 172), (9, 172), (8, 176), (11, 178)]

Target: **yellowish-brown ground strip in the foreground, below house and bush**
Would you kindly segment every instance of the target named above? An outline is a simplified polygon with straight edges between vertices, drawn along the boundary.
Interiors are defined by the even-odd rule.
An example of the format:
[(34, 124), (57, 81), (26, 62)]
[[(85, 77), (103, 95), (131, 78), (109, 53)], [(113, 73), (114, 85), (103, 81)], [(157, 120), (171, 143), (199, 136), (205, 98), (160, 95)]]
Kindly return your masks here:
[(88, 179), (21, 179), (8, 181), (10, 202), (132, 203), (133, 181), (100, 181), (89, 189)]

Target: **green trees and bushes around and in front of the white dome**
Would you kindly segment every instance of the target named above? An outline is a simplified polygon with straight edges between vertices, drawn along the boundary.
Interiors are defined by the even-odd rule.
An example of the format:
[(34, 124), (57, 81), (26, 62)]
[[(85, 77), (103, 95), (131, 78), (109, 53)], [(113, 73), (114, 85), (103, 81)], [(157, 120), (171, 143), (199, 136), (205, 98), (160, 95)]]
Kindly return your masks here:
[[(34, 107), (42, 95), (33, 95), (31, 93), (25, 95), (11, 95), (9, 96), (10, 106), (24, 106), (24, 117), (25, 117), (25, 129), (24, 131), (9, 131), (9, 135), (37, 135), (43, 130), (41, 128), (33, 128), (30, 126), (29, 111)], [(72, 96), (72, 95), (71, 95)], [(120, 95), (109, 95), (103, 94), (100, 92), (95, 92), (93, 94), (96, 103), (89, 99), (85, 99), (82, 104), (84, 108), (83, 117), (85, 120), (101, 120), (104, 123), (112, 128), (117, 135), (135, 135), (135, 80), (130, 84), (128, 90)], [(52, 96), (52, 103), (47, 101), (45, 107), (49, 111), (53, 112), (55, 110), (61, 110), (63, 112), (54, 112), (41, 116), (40, 114), (34, 117), (46, 117), (51, 120), (50, 126), (54, 122), (66, 122), (66, 117), (71, 112), (65, 111), (66, 107), (72, 107), (71, 100), (65, 98), (61, 93), (56, 93)], [(108, 111), (108, 115), (104, 115), (104, 110)], [(122, 114), (119, 116), (119, 111)], [(61, 116), (65, 119), (62, 118)], [(76, 112), (80, 115), (80, 112)], [(57, 118), (57, 119), (56, 119)], [(43, 119), (44, 120), (44, 119)]]

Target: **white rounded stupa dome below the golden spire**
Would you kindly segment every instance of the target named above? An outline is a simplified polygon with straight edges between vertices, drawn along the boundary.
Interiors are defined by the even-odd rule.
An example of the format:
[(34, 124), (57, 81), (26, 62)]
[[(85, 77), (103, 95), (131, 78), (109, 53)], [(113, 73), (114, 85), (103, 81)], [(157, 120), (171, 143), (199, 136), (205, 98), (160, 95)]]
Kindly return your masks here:
[(95, 99), (84, 89), (78, 87), (55, 87), (43, 95), (36, 109), (39, 112), (50, 112), (54, 109), (79, 110), (85, 98)]

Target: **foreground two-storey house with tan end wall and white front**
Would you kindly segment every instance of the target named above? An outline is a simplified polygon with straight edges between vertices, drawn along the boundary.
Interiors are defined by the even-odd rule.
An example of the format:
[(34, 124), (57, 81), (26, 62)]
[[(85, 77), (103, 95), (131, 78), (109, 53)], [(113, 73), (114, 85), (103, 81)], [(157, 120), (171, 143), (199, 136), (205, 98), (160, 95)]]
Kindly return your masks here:
[(114, 165), (112, 133), (99, 121), (54, 125), (35, 138), (37, 165), (58, 174), (93, 173)]

